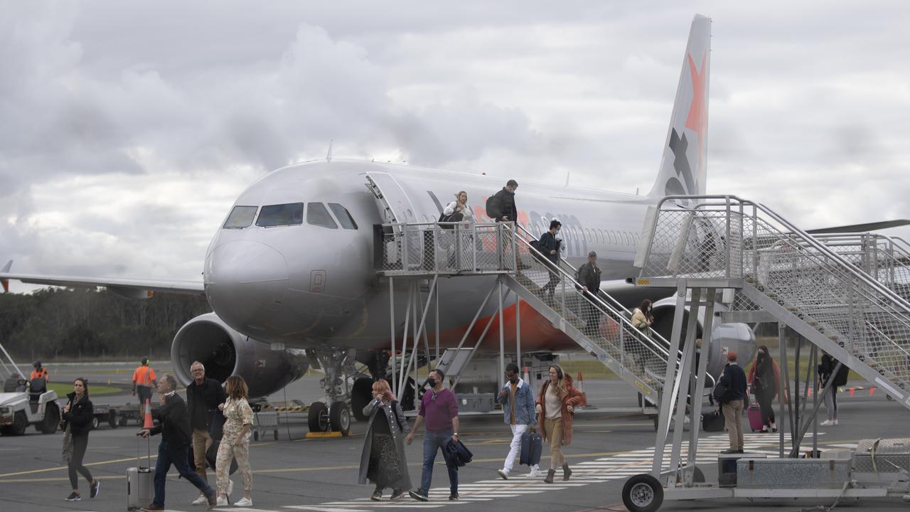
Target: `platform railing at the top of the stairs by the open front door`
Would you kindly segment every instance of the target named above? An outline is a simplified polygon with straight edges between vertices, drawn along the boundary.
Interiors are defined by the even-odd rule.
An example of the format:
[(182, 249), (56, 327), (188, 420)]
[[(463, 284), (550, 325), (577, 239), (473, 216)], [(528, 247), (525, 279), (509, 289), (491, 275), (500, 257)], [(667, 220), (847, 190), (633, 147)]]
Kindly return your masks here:
[(515, 271), (511, 222), (383, 224), (377, 270), (387, 275)]

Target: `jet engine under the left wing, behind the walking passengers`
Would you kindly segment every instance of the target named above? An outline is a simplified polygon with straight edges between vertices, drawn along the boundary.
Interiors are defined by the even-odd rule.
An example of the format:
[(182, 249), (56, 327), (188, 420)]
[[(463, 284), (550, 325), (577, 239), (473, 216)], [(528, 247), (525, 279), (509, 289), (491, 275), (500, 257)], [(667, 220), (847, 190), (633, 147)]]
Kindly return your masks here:
[(199, 315), (177, 331), (171, 343), (171, 361), (181, 384), (193, 377), (189, 366), (198, 361), (206, 376), (223, 383), (230, 375), (247, 381), (250, 398), (275, 393), (307, 373), (307, 354), (302, 349), (272, 350), (231, 329), (214, 312)]

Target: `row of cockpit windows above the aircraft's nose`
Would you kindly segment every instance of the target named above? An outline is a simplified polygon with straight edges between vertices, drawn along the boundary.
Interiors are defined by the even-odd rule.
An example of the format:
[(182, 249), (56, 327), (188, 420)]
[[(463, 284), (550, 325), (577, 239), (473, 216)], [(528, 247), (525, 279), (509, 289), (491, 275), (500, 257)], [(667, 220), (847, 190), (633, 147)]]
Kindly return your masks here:
[[(346, 230), (357, 229), (357, 222), (350, 216), (348, 209), (337, 202), (330, 202), (329, 208), (326, 208), (326, 205), (321, 202), (308, 202), (306, 208), (302, 202), (269, 204), (261, 209), (256, 206), (235, 206), (227, 216), (224, 227), (235, 230), (247, 228), (256, 218), (257, 210), (259, 210), (259, 217), (256, 219), (256, 225), (260, 228), (303, 224), (304, 211), (306, 211), (307, 223), (310, 225), (337, 230), (341, 224), (341, 227)], [(332, 214), (335, 216), (332, 217)], [(338, 221), (336, 222), (336, 220)]]

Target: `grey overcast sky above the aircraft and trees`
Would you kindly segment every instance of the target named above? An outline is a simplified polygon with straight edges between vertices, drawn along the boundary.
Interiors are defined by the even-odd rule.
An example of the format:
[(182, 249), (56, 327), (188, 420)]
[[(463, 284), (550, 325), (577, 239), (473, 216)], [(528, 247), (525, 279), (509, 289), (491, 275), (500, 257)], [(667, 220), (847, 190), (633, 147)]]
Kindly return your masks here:
[(332, 138), (647, 191), (695, 13), (709, 192), (806, 228), (910, 218), (907, 2), (0, 0), (0, 266), (200, 280), (238, 194)]

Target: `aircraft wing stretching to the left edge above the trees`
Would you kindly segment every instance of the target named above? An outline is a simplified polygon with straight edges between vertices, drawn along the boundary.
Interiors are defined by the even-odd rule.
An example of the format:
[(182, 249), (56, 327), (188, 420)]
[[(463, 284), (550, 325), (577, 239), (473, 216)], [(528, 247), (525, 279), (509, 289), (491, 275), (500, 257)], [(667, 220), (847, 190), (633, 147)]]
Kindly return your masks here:
[(155, 292), (180, 293), (184, 295), (204, 295), (206, 290), (202, 281), (163, 281), (153, 279), (121, 279), (104, 277), (81, 277), (66, 275), (20, 274), (10, 271), (12, 261), (0, 270), (0, 282), (8, 292), (9, 280), (28, 284), (47, 284), (49, 286), (66, 286), (67, 288), (104, 287), (109, 292), (129, 299), (147, 299)]

